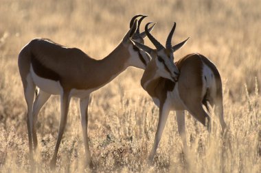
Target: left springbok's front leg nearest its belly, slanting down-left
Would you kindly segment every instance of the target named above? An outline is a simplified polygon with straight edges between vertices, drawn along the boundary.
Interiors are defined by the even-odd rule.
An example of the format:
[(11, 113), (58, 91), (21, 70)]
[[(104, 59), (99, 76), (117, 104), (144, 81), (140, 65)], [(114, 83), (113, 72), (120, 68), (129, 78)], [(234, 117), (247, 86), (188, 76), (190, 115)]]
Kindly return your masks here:
[(65, 131), (65, 125), (67, 122), (69, 103), (70, 103), (69, 93), (65, 92), (65, 93), (61, 94), (60, 95), (60, 124), (59, 124), (57, 142), (56, 142), (56, 146), (54, 149), (54, 155), (53, 155), (53, 158), (51, 161), (51, 169), (54, 169), (56, 166), (57, 153), (58, 153), (58, 149), (60, 146), (60, 141), (61, 141), (61, 139), (63, 137), (63, 133)]

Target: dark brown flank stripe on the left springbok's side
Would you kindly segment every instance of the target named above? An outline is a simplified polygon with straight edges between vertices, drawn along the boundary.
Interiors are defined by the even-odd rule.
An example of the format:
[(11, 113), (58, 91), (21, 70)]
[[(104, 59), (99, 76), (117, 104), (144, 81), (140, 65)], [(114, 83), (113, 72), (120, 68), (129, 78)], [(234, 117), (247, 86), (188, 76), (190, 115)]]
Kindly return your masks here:
[(39, 62), (38, 59), (34, 57), (34, 55), (31, 56), (31, 62), (32, 62), (32, 68), (34, 69), (36, 75), (38, 75), (39, 77), (43, 77), (45, 79), (59, 81), (60, 79), (59, 75), (53, 70), (43, 66), (43, 64), (41, 64), (41, 62)]

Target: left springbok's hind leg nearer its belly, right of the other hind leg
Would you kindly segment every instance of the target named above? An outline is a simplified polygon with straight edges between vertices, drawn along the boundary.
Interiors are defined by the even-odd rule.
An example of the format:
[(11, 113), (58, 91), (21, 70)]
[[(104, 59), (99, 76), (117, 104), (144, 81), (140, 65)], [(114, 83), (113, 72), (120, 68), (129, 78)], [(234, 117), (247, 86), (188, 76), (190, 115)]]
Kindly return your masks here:
[(33, 107), (33, 111), (32, 111), (32, 115), (33, 115), (32, 138), (33, 138), (33, 142), (34, 142), (34, 150), (36, 150), (36, 148), (38, 146), (37, 135), (36, 135), (36, 122), (37, 122), (38, 113), (41, 110), (41, 108), (43, 107), (43, 105), (45, 105), (47, 100), (50, 98), (50, 96), (51, 96), (51, 94), (49, 94), (47, 92), (43, 92), (43, 90), (40, 90), (38, 96), (36, 97), (36, 99), (34, 101), (34, 107)]

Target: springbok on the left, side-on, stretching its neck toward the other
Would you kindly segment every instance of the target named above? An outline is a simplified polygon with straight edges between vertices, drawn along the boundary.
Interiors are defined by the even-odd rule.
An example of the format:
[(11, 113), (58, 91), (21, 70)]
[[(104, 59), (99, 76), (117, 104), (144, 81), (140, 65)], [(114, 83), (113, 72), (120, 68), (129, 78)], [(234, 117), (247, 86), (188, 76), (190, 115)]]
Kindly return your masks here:
[[(139, 16), (141, 18), (137, 22), (136, 18)], [(130, 23), (131, 29), (128, 30), (122, 42), (100, 60), (89, 57), (80, 49), (68, 48), (45, 38), (36, 38), (23, 47), (19, 53), (18, 65), (27, 103), (27, 130), (31, 161), (33, 160), (33, 144), (34, 150), (38, 145), (36, 136), (38, 112), (52, 94), (58, 94), (60, 95), (60, 124), (51, 168), (55, 168), (56, 165), (71, 97), (80, 98), (86, 163), (93, 167), (87, 136), (89, 96), (91, 92), (117, 77), (128, 66), (145, 69), (149, 59), (144, 59), (146, 57), (140, 55), (137, 47), (130, 40), (133, 38), (137, 42), (144, 42), (146, 33), (139, 33), (139, 25), (145, 17), (134, 16)], [(152, 25), (149, 31), (154, 26)], [(34, 99), (36, 86), (39, 92)]]

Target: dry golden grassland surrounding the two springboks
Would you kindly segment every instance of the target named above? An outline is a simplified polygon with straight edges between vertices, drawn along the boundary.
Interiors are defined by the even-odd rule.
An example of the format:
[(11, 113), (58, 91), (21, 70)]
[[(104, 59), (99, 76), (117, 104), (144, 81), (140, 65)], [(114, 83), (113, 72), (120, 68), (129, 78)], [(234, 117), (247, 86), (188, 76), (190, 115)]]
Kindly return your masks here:
[[(117, 46), (135, 14), (148, 14), (144, 23), (157, 22), (152, 34), (161, 42), (174, 21), (177, 29), (172, 42), (190, 36), (188, 44), (175, 54), (176, 59), (198, 52), (216, 64), (223, 79), (227, 137), (220, 137), (218, 123), (209, 136), (186, 114), (191, 151), (184, 159), (176, 117), (171, 113), (154, 165), (148, 167), (159, 110), (139, 84), (142, 70), (128, 68), (91, 96), (89, 139), (95, 172), (259, 172), (260, 9), (260, 0), (0, 0), (0, 172), (30, 171), (26, 106), (17, 67), (21, 48), (32, 38), (43, 37), (76, 46), (100, 59)], [(152, 46), (147, 39), (146, 44)], [(59, 97), (52, 96), (38, 116), (35, 172), (49, 172), (59, 105)], [(72, 100), (57, 172), (89, 171), (83, 168), (79, 114), (78, 101)]]

